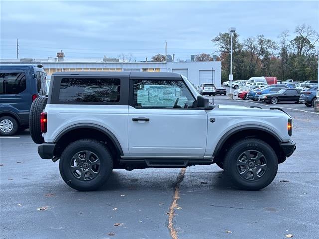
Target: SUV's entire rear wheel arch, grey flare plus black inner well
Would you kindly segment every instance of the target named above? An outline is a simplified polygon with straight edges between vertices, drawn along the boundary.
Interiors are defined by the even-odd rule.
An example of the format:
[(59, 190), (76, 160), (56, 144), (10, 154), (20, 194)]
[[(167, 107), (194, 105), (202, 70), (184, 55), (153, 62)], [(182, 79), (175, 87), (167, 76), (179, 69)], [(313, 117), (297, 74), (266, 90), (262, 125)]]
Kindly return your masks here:
[(119, 141), (110, 130), (100, 125), (89, 123), (70, 126), (58, 134), (53, 140), (57, 145), (55, 154), (59, 155), (69, 143), (84, 138), (104, 141), (107, 147), (113, 147), (115, 149), (112, 150), (112, 148), (110, 148), (113, 156), (119, 157), (123, 155), (123, 150)]

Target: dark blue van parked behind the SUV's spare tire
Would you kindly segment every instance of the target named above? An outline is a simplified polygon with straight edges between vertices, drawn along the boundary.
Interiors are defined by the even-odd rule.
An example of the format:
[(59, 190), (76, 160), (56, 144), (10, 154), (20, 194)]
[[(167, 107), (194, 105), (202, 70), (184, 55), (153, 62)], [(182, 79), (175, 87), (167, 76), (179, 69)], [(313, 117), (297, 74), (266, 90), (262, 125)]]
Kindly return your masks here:
[(47, 95), (42, 65), (0, 64), (0, 135), (29, 126), (32, 101)]

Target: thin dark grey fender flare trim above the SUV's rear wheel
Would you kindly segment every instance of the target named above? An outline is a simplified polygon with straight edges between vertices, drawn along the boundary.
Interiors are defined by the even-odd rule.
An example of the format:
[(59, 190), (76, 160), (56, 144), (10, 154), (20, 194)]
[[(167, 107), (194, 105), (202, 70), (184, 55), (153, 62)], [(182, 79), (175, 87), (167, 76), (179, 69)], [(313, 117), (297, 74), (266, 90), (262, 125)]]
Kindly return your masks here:
[(104, 133), (107, 137), (110, 138), (110, 140), (115, 145), (115, 147), (118, 150), (118, 152), (120, 153), (120, 155), (123, 156), (122, 147), (121, 147), (119, 141), (117, 140), (117, 138), (114, 136), (114, 134), (110, 130), (106, 129), (105, 127), (102, 127), (100, 125), (93, 124), (93, 123), (79, 123), (79, 124), (72, 125), (72, 126), (68, 127), (67, 129), (63, 130), (62, 132), (60, 132), (55, 137), (53, 142), (58, 142), (68, 132), (75, 130), (75, 129), (79, 129), (79, 128), (90, 128), (90, 129), (98, 130), (101, 133)]

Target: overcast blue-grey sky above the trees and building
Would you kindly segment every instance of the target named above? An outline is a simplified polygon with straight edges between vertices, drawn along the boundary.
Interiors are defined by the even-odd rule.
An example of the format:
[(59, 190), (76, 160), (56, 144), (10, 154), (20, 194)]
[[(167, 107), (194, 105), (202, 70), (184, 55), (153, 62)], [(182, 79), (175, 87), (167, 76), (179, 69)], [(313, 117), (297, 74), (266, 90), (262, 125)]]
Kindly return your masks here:
[(216, 51), (211, 39), (236, 27), (241, 39), (277, 40), (298, 24), (319, 28), (319, 1), (9, 1), (0, 0), (0, 58), (117, 57), (156, 53), (175, 59)]

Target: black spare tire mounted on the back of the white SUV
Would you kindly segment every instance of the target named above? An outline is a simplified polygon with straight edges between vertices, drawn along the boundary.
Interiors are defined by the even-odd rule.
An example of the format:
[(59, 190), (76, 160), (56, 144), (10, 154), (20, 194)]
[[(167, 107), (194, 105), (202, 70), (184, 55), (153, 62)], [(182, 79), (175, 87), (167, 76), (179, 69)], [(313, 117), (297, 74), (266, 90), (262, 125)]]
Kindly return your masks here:
[(30, 109), (30, 118), (29, 118), (29, 126), (30, 133), (33, 142), (37, 144), (44, 143), (44, 138), (42, 137), (41, 132), (41, 113), (43, 112), (46, 103), (48, 102), (48, 98), (46, 97), (38, 97), (36, 98), (31, 105)]

